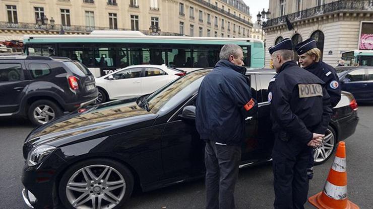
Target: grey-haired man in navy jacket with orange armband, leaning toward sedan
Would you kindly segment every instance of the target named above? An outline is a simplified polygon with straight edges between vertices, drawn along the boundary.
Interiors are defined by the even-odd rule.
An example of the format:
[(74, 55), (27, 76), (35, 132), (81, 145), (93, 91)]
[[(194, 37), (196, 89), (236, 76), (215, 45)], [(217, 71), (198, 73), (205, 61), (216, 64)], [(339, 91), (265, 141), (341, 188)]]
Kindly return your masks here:
[(206, 141), (206, 208), (232, 209), (245, 118), (255, 113), (257, 102), (242, 66), (242, 49), (224, 45), (219, 58), (198, 91), (196, 127)]

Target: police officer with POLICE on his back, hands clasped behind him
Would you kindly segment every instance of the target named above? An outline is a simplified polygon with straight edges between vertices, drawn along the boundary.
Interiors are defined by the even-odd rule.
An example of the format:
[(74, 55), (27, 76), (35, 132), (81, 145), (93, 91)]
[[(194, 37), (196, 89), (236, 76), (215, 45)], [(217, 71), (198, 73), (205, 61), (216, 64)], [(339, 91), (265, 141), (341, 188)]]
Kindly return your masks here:
[(272, 152), (276, 209), (304, 208), (310, 150), (320, 146), (332, 115), (325, 83), (293, 61), (292, 42), (269, 48), (277, 71), (270, 87)]

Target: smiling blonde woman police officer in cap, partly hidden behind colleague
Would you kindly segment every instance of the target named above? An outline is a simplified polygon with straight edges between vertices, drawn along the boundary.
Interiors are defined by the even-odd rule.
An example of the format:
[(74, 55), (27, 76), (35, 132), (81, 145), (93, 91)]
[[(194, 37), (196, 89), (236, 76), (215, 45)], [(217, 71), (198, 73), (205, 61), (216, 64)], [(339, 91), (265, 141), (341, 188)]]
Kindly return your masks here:
[[(326, 89), (330, 95), (330, 102), (334, 108), (341, 99), (341, 86), (336, 70), (321, 61), (321, 51), (316, 46), (316, 41), (309, 38), (295, 46), (295, 50), (299, 56), (299, 63), (304, 69), (312, 72), (325, 82)], [(325, 133), (319, 133), (325, 134)], [(309, 179), (314, 176), (314, 152), (310, 152), (309, 165), (307, 168), (307, 175)]]

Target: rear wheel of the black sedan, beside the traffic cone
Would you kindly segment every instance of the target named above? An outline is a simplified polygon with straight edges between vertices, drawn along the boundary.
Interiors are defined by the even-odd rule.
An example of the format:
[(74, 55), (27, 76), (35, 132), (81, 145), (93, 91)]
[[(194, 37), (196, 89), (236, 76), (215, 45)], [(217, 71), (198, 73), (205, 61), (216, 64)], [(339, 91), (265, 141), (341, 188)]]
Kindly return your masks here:
[(337, 134), (331, 126), (328, 126), (323, 145), (314, 151), (314, 164), (320, 165), (326, 162), (333, 155), (336, 146)]

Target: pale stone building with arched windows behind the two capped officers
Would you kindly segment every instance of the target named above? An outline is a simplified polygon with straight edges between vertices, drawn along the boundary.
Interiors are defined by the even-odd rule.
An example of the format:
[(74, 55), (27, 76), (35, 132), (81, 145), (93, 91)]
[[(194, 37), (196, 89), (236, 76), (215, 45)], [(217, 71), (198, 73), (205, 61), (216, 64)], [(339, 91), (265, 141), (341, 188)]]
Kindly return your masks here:
[[(359, 49), (361, 25), (373, 23), (373, 1), (270, 0), (269, 3), (271, 15), (264, 23), (266, 66), (270, 60), (268, 47), (283, 38), (291, 38), (297, 44), (309, 37), (317, 41), (323, 61), (335, 66), (343, 52)], [(294, 30), (288, 30), (285, 16)]]

